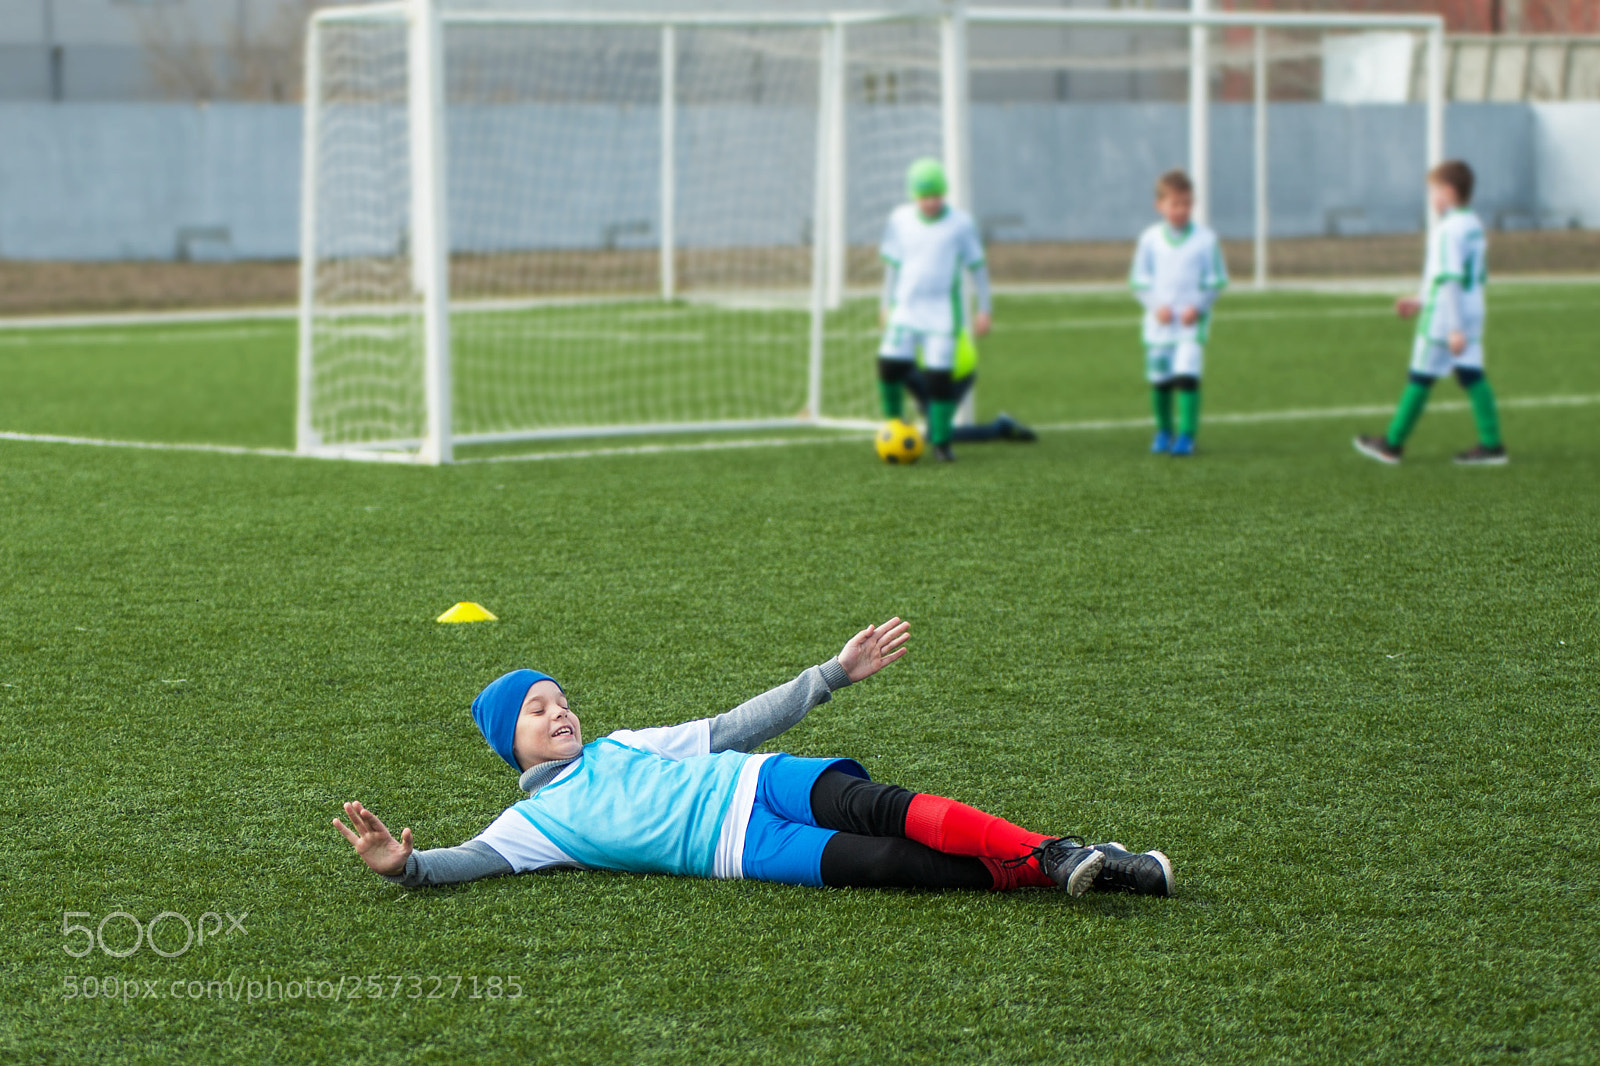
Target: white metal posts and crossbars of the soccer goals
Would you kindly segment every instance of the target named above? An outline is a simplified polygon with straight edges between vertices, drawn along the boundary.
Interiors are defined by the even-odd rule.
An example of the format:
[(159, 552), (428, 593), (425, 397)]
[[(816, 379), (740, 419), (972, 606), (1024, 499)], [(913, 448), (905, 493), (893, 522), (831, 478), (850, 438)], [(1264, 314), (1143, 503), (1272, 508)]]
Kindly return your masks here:
[[(949, 200), (971, 208), (971, 134), (968, 125), (968, 27), (1131, 27), (1189, 29), (1189, 173), (1195, 182), (1195, 218), (1210, 218), (1210, 61), (1208, 32), (1213, 29), (1254, 30), (1253, 69), (1253, 176), (1254, 176), (1254, 283), (1267, 283), (1269, 189), (1267, 189), (1267, 34), (1270, 30), (1406, 30), (1426, 35), (1426, 160), (1429, 166), (1445, 157), (1445, 19), (1438, 14), (1352, 14), (1352, 13), (1269, 13), (1211, 11), (1208, 0), (1190, 0), (1190, 10), (1150, 11), (1128, 8), (1022, 8), (979, 6), (944, 0), (928, 10), (835, 11), (835, 13), (728, 13), (728, 11), (517, 11), (445, 10), (440, 0), (389, 0), (360, 6), (333, 6), (314, 11), (306, 35), (306, 107), (301, 181), (301, 275), (299, 275), (299, 359), (296, 403), (296, 451), (323, 458), (389, 459), (422, 464), (451, 463), (461, 443), (515, 440), (613, 437), (634, 434), (710, 432), (725, 429), (778, 427), (862, 427), (862, 419), (829, 418), (824, 408), (822, 370), (826, 322), (845, 299), (846, 277), (846, 48), (853, 26), (885, 22), (936, 22), (939, 29), (939, 107), (942, 155)], [(318, 181), (318, 102), (322, 29), (336, 22), (387, 22), (406, 27), (408, 138), (411, 186), (411, 279), (422, 320), (422, 394), (426, 434), (419, 440), (386, 440), (358, 445), (325, 445), (314, 427), (312, 376), (315, 343), (317, 287), (317, 181)], [(821, 37), (819, 99), (816, 136), (814, 222), (811, 226), (811, 293), (806, 407), (794, 418), (728, 419), (696, 423), (651, 423), (635, 426), (595, 426), (456, 435), (451, 427), (451, 336), (450, 336), (450, 232), (445, 160), (445, 26), (550, 26), (550, 27), (656, 27), (661, 35), (661, 173), (659, 173), (659, 275), (661, 298), (678, 296), (675, 272), (677, 230), (677, 30), (683, 27), (794, 27), (816, 29)], [(1429, 234), (1435, 219), (1424, 205)], [(968, 392), (958, 421), (973, 418)]]

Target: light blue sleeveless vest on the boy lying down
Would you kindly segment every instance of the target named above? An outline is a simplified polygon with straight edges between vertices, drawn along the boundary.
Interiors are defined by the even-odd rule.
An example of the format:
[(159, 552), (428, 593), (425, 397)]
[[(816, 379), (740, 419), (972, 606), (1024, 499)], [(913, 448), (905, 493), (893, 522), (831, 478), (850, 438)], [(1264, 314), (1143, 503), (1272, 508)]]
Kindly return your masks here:
[(514, 810), (584, 866), (710, 877), (722, 821), (750, 755), (664, 759), (614, 739)]

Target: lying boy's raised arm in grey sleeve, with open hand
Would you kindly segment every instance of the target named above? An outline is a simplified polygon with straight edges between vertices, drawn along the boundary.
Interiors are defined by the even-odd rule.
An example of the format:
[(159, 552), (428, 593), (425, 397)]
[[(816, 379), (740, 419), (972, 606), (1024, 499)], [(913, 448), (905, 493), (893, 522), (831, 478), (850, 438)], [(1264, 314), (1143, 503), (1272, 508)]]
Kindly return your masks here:
[(867, 626), (850, 639), (837, 658), (714, 717), (710, 749), (750, 751), (794, 728), (811, 707), (827, 703), (835, 690), (866, 680), (904, 656), (909, 639), (910, 623), (899, 618)]

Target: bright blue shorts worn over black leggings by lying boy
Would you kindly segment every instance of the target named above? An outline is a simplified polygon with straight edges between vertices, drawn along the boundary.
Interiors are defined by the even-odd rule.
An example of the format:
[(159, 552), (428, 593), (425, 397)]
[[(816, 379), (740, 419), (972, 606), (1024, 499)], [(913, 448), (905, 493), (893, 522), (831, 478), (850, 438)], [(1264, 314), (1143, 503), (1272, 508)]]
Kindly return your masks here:
[(822, 848), (837, 829), (822, 829), (811, 816), (811, 786), (829, 770), (867, 776), (854, 759), (776, 755), (762, 763), (750, 824), (744, 829), (747, 879), (822, 887)]

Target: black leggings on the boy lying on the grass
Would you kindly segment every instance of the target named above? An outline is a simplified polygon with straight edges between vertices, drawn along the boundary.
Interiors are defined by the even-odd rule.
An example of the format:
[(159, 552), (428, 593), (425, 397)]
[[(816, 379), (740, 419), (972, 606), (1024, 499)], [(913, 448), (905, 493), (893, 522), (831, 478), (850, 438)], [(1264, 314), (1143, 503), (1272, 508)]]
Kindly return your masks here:
[(906, 839), (914, 792), (827, 770), (811, 786), (811, 816), (838, 832), (822, 848), (830, 888), (992, 888), (989, 868)]

